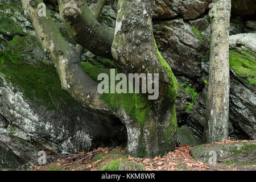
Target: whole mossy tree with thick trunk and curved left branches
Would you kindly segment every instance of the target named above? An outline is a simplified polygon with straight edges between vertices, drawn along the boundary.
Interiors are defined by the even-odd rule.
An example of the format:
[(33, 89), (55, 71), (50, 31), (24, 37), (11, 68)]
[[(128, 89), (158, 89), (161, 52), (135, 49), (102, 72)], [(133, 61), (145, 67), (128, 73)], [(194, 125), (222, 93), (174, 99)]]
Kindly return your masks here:
[(51, 16), (38, 15), (42, 0), (22, 0), (43, 48), (49, 53), (63, 89), (86, 108), (114, 115), (127, 127), (127, 151), (134, 156), (158, 156), (175, 149), (177, 80), (160, 55), (152, 31), (154, 1), (118, 1), (114, 30), (102, 26), (84, 0), (59, 0), (60, 14), (81, 46), (113, 59), (123, 73), (159, 74), (159, 97), (148, 94), (99, 94), (80, 65), (81, 46), (72, 47), (61, 36)]

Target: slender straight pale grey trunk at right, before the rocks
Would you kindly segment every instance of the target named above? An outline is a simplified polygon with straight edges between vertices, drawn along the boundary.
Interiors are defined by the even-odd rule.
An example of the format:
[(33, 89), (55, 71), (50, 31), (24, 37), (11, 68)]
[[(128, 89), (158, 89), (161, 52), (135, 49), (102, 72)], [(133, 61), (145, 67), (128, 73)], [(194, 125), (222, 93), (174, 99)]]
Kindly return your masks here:
[(209, 86), (204, 136), (207, 142), (228, 138), (230, 0), (216, 0), (211, 21)]

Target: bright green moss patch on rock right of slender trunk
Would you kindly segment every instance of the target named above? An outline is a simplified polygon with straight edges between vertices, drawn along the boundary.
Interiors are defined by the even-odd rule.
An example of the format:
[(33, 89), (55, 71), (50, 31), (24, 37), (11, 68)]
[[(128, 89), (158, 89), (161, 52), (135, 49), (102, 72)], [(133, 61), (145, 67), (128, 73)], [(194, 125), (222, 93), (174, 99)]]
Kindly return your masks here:
[(247, 84), (256, 83), (256, 56), (247, 49), (230, 50), (229, 65), (230, 68), (243, 78)]

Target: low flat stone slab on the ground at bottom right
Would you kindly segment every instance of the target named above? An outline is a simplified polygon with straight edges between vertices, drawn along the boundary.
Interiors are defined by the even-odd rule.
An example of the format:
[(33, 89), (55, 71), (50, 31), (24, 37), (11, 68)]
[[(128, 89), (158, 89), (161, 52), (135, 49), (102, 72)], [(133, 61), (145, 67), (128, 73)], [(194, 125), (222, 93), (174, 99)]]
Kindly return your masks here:
[[(256, 141), (195, 146), (189, 149), (193, 159), (203, 163), (256, 164)], [(213, 158), (216, 156), (216, 160)]]

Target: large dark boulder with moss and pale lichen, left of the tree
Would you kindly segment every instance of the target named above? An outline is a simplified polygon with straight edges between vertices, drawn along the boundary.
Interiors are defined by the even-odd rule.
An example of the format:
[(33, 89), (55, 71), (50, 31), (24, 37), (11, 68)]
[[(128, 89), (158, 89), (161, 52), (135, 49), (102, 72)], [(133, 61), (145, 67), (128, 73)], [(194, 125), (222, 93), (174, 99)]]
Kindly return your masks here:
[(119, 137), (125, 127), (117, 119), (84, 109), (61, 89), (56, 69), (19, 1), (15, 3), (0, 1), (0, 153), (6, 156), (2, 163), (11, 164), (3, 148), (30, 160), (42, 150), (47, 155), (73, 154), (126, 141)]

